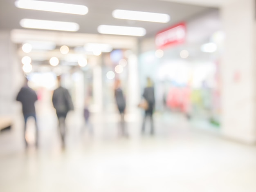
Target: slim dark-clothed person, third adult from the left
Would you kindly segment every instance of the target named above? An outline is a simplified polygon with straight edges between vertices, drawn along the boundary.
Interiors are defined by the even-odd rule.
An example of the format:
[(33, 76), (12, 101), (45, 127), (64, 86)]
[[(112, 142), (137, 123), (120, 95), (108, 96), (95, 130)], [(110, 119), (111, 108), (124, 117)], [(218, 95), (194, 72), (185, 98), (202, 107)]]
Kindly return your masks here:
[(117, 108), (121, 117), (121, 121), (120, 121), (121, 134), (124, 136), (128, 136), (126, 132), (125, 120), (124, 120), (126, 100), (125, 100), (124, 92), (121, 89), (121, 81), (119, 79), (115, 81), (115, 100), (116, 100)]

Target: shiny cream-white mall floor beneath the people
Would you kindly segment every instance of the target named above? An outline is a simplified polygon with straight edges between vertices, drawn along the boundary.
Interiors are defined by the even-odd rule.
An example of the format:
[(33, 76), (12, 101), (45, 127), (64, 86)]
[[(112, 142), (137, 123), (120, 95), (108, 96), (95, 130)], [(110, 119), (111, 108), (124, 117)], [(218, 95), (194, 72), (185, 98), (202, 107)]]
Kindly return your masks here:
[[(129, 114), (129, 138), (115, 114), (92, 118), (94, 133), (70, 114), (61, 150), (52, 112), (40, 114), (39, 149), (25, 151), (22, 118), (0, 134), (0, 192), (256, 192), (256, 147), (189, 127), (179, 115), (156, 115), (156, 134), (140, 134)], [(33, 124), (27, 134), (33, 141)]]

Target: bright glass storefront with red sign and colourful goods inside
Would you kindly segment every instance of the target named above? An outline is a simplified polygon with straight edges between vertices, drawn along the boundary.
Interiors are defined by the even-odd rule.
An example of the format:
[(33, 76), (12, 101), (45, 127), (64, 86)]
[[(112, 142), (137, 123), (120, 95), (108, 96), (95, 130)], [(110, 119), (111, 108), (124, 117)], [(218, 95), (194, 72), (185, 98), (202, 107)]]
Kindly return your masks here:
[[(220, 126), (223, 38), (218, 12), (157, 33), (154, 47), (139, 57), (140, 86), (148, 76), (154, 80), (157, 112), (167, 109)], [(148, 42), (142, 42), (142, 49)]]

